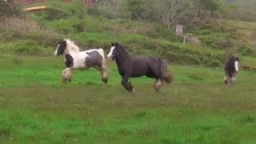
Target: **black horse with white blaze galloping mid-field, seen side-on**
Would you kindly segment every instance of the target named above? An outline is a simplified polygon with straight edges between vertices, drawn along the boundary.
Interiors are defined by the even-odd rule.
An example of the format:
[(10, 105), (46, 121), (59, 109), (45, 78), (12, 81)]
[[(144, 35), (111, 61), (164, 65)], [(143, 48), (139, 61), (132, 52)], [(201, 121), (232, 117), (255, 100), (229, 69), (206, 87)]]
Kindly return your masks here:
[(134, 92), (134, 88), (129, 82), (129, 78), (138, 78), (143, 75), (155, 78), (154, 89), (157, 91), (162, 86), (163, 81), (172, 82), (172, 74), (167, 70), (167, 62), (162, 58), (131, 58), (118, 42), (112, 43), (107, 57), (115, 59), (118, 65), (118, 72), (122, 76), (122, 86), (130, 92)]

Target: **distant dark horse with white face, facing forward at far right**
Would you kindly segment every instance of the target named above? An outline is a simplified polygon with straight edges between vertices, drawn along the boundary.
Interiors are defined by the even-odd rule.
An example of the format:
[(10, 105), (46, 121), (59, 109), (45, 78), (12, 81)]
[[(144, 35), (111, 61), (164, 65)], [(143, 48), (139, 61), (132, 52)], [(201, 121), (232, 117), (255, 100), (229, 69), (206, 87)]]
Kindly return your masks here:
[(224, 83), (232, 83), (236, 82), (236, 74), (238, 73), (239, 67), (239, 58), (235, 57), (234, 55), (230, 55), (230, 57), (226, 60), (224, 70), (225, 70), (225, 77)]

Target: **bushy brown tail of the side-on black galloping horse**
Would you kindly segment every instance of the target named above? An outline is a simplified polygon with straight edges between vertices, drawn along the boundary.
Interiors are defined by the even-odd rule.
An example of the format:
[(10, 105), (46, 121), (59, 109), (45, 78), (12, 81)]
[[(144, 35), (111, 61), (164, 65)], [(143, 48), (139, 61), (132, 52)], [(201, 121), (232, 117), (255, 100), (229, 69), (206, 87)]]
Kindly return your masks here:
[(161, 72), (162, 79), (167, 83), (172, 82), (173, 81), (173, 74), (171, 74), (170, 71), (167, 70), (166, 60), (164, 60), (162, 58), (158, 58), (158, 61), (160, 62), (160, 72)]

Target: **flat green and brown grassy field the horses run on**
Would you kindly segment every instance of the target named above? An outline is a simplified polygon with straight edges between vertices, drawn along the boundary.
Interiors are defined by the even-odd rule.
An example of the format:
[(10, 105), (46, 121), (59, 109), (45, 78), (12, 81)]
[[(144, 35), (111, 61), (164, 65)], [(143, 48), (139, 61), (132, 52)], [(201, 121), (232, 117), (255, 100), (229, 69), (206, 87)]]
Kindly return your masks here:
[(96, 70), (62, 84), (63, 58), (1, 54), (0, 142), (3, 143), (255, 143), (256, 73), (241, 70), (224, 86), (223, 70), (170, 66), (174, 82), (121, 86), (114, 62), (109, 84)]

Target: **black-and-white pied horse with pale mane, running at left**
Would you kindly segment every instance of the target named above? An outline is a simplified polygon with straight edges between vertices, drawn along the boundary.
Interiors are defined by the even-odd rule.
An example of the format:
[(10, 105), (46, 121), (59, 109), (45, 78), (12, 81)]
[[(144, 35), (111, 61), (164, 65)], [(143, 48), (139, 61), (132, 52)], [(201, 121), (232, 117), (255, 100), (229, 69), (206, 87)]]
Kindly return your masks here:
[(104, 57), (104, 51), (102, 49), (93, 49), (80, 51), (78, 46), (70, 39), (64, 39), (58, 42), (58, 46), (54, 53), (56, 56), (64, 54), (65, 65), (70, 70), (82, 70), (94, 67), (102, 74), (102, 81), (107, 83), (108, 72)]

